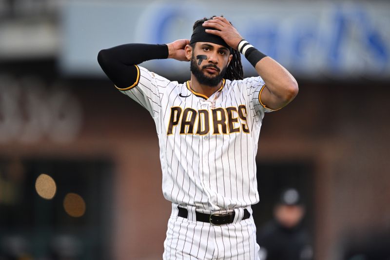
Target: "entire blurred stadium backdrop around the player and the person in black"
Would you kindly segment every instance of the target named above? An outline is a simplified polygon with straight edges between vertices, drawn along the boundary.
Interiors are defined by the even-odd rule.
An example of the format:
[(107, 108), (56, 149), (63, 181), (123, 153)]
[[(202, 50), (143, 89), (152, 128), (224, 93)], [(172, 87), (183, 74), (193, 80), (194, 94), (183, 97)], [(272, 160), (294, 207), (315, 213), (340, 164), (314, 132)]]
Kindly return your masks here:
[[(212, 15), (300, 87), (263, 121), (257, 227), (294, 187), (314, 259), (390, 259), (389, 1), (0, 0), (0, 260), (161, 259), (156, 127), (97, 55), (189, 39)], [(186, 62), (142, 66), (190, 77)]]

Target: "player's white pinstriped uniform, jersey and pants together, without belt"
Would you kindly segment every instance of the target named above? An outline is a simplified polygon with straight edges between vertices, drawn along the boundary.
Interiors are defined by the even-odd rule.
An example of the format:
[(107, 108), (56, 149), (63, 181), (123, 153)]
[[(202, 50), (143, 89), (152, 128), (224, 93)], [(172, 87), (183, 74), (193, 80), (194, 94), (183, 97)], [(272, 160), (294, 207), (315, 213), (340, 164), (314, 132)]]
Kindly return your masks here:
[[(226, 80), (220, 93), (206, 100), (185, 83), (169, 81), (140, 66), (139, 70), (137, 86), (122, 92), (146, 108), (155, 120), (164, 197), (173, 205), (191, 206), (203, 213), (250, 210), (259, 201), (255, 156), (260, 128), (264, 113), (271, 111), (259, 100), (264, 81), (260, 77)], [(232, 107), (230, 119), (226, 118), (227, 107)], [(186, 108), (191, 112), (182, 117)], [(208, 111), (205, 120), (209, 122), (209, 132), (199, 135), (196, 129), (200, 127), (199, 111), (203, 110)], [(223, 111), (225, 122), (219, 122), (223, 121)], [(191, 121), (192, 113), (195, 121)], [(190, 125), (181, 128), (183, 121), (191, 121), (192, 133)], [(206, 127), (205, 122), (202, 124)], [(228, 129), (226, 133), (223, 125)], [(219, 134), (214, 134), (214, 127), (222, 129)], [(229, 133), (229, 129), (239, 131)], [(174, 207), (164, 247), (164, 259), (249, 260), (257, 259), (258, 250), (252, 217), (211, 226), (190, 217), (178, 218)]]

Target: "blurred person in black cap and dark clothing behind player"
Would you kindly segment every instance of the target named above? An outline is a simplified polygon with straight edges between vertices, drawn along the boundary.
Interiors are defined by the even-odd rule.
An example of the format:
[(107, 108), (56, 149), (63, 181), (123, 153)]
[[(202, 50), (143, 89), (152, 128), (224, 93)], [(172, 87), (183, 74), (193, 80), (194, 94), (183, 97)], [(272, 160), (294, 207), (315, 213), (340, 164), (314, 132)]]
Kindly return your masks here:
[(305, 206), (296, 189), (281, 193), (273, 216), (257, 235), (260, 260), (312, 260), (311, 239), (302, 225)]

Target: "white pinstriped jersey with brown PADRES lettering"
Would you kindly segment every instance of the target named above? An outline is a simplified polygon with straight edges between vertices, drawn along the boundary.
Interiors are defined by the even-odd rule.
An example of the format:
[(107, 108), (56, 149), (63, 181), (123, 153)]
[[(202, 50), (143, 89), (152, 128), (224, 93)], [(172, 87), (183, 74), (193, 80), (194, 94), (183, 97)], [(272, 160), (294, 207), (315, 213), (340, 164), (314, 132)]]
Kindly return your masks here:
[(210, 98), (189, 82), (137, 66), (137, 81), (120, 89), (156, 123), (165, 199), (210, 212), (259, 201), (255, 156), (264, 112), (260, 77), (223, 80)]

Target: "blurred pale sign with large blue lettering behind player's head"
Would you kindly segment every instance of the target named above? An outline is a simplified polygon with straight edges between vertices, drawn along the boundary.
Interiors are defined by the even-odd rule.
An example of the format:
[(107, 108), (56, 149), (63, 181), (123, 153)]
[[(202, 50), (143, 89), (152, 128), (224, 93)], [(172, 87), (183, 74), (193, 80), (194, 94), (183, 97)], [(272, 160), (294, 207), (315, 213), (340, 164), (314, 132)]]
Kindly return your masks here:
[[(69, 74), (103, 75), (96, 61), (100, 49), (189, 39), (195, 20), (223, 14), (246, 40), (298, 77), (388, 79), (389, 10), (389, 1), (67, 1), (60, 65)], [(254, 75), (242, 58), (246, 75)], [(164, 76), (190, 75), (188, 62), (151, 60), (145, 66)]]

